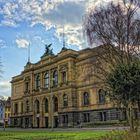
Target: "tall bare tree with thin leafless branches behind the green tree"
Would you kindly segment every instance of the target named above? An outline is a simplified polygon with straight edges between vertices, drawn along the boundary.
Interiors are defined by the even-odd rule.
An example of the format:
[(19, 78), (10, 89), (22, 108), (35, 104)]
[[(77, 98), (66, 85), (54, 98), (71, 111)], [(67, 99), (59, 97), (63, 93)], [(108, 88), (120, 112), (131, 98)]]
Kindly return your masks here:
[[(125, 64), (127, 67), (130, 66), (134, 59), (140, 58), (139, 12), (139, 0), (118, 0), (115, 3), (113, 1), (108, 3), (106, 6), (90, 9), (85, 17), (84, 31), (89, 44), (91, 46), (94, 43), (101, 45), (100, 49), (96, 50), (96, 64), (94, 63), (94, 65), (98, 72), (95, 73), (95, 76), (105, 86), (107, 76), (116, 69), (116, 65), (122, 66)], [(108, 85), (106, 88), (111, 90)], [(128, 93), (131, 94), (132, 92)], [(139, 92), (135, 94), (137, 96), (135, 101), (138, 103), (137, 105), (140, 110), (139, 94)], [(120, 97), (115, 96), (115, 94), (109, 96), (111, 97), (112, 95), (112, 99), (115, 102), (117, 101), (118, 104), (125, 106), (126, 102), (122, 102), (123, 100), (120, 100)], [(125, 106), (128, 111), (132, 110), (131, 101)], [(130, 123), (133, 123), (131, 121), (133, 118), (132, 111), (128, 112), (128, 116)]]

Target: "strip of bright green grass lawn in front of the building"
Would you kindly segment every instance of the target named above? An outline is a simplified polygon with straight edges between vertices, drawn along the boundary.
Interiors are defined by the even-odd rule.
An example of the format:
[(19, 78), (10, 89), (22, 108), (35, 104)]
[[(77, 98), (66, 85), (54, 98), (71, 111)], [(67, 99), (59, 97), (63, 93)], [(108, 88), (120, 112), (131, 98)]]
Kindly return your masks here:
[(98, 140), (113, 132), (0, 131), (0, 140)]

